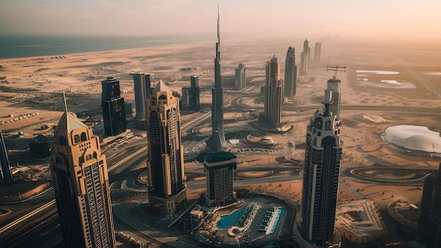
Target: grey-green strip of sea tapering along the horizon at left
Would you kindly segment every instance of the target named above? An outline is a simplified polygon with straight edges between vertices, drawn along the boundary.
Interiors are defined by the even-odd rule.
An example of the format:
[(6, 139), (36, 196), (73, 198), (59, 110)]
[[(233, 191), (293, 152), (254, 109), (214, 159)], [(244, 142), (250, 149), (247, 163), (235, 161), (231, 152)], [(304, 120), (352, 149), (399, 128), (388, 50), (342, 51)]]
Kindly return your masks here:
[(0, 35), (0, 58), (23, 58), (203, 42), (182, 37)]

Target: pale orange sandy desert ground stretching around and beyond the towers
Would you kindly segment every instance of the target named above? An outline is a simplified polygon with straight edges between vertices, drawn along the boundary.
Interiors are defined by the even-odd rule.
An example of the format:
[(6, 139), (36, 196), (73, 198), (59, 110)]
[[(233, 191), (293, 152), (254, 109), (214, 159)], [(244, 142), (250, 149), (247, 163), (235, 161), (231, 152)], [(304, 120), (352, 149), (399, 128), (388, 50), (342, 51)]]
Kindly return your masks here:
[[(292, 45), (302, 47), (301, 43), (266, 40), (260, 42), (256, 39), (223, 42), (221, 49), (223, 75), (225, 78), (232, 76), (237, 64), (244, 63), (247, 77), (250, 77), (251, 81), (263, 80), (264, 65), (273, 54), (278, 56), (283, 73), (287, 46)], [(441, 113), (435, 110), (441, 109), (440, 98), (422, 83), (429, 81), (440, 85), (441, 76), (426, 73), (441, 71), (441, 68), (433, 66), (440, 64), (441, 58), (438, 56), (440, 52), (437, 48), (434, 49), (435, 51), (430, 53), (430, 48), (427, 49), (428, 51), (420, 51), (415, 47), (406, 48), (406, 46), (323, 42), (322, 62), (311, 65), (306, 77), (299, 77), (297, 104), (294, 105), (295, 108), (284, 109), (282, 121), (294, 125), (294, 129), (288, 135), (273, 135), (273, 139), (285, 146), (282, 154), (238, 154), (238, 158), (244, 160), (246, 157), (247, 161), (251, 161), (247, 166), (276, 163), (275, 159), (279, 156), (302, 160), (304, 156), (302, 149), (287, 148), (289, 138), (292, 138), (296, 144), (304, 143), (306, 125), (312, 115), (311, 111), (302, 111), (298, 107), (321, 109), (326, 82), (333, 76), (333, 72), (327, 72), (325, 66), (338, 64), (347, 66), (346, 73), (337, 73), (337, 78), (342, 80), (340, 114), (344, 123), (341, 131), (342, 169), (372, 166), (376, 163), (384, 164), (384, 161), (387, 161), (387, 166), (437, 168), (439, 158), (406, 154), (385, 143), (381, 137), (385, 128), (390, 125), (439, 127)], [(13, 123), (0, 124), (0, 128), (6, 132), (26, 128), (24, 132), (30, 136), (40, 133), (39, 125), (56, 123), (57, 118), (61, 116), (63, 90), (67, 92), (70, 111), (77, 112), (90, 106), (100, 106), (100, 82), (107, 76), (114, 76), (120, 80), (120, 88), (123, 93), (125, 92), (123, 94), (125, 101), (134, 104), (130, 73), (151, 73), (153, 82), (161, 79), (177, 92), (180, 92), (182, 87), (190, 86), (191, 75), (199, 75), (201, 103), (209, 106), (211, 87), (213, 87), (213, 58), (214, 42), (3, 59), (0, 60), (0, 121), (11, 120), (14, 116), (27, 113), (39, 113), (39, 115)], [(299, 64), (299, 49), (297, 49), (297, 64)], [(192, 69), (181, 70), (182, 68)], [(395, 79), (412, 82), (416, 87), (414, 89), (363, 87), (358, 84), (356, 70), (397, 71), (400, 76)], [(389, 76), (387, 79), (394, 78)], [(225, 94), (230, 94), (227, 89)], [(252, 97), (247, 99), (245, 95), (244, 99), (249, 107), (262, 106), (254, 103)], [(390, 107), (404, 108), (404, 112), (401, 113)], [(234, 113), (226, 113), (226, 115), (228, 118), (237, 118)], [(186, 119), (182, 118), (182, 120)], [(201, 128), (210, 130), (209, 125)], [(350, 178), (341, 178), (340, 182), (340, 201), (364, 196), (373, 198), (382, 205), (397, 198), (406, 199), (407, 202), (419, 202), (421, 198), (421, 189), (416, 189), (414, 186), (385, 187), (356, 182)], [(302, 192), (301, 180), (273, 185), (250, 185), (249, 188), (277, 192), (297, 201), (300, 200)]]

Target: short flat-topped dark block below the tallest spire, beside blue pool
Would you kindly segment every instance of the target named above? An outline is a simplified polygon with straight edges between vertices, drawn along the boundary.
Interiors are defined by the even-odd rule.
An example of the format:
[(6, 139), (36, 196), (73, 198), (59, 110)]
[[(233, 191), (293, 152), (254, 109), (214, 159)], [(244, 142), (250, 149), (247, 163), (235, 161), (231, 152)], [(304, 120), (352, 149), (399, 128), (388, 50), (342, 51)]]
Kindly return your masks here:
[(205, 202), (207, 205), (225, 206), (235, 202), (235, 192), (232, 190), (232, 180), (233, 170), (236, 168), (236, 155), (228, 151), (219, 151), (205, 156)]

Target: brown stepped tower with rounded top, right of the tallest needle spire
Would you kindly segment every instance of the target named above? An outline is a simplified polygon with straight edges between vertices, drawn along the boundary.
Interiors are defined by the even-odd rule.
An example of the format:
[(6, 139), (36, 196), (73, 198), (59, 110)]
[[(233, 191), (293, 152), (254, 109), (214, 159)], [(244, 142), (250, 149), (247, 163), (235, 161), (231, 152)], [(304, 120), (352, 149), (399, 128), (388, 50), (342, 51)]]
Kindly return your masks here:
[(275, 56), (271, 58), (271, 61), (266, 62), (265, 80), (265, 85), (261, 87), (264, 96), (263, 113), (259, 114), (259, 119), (275, 128), (282, 119), (283, 100), (283, 80), (280, 80), (280, 63)]

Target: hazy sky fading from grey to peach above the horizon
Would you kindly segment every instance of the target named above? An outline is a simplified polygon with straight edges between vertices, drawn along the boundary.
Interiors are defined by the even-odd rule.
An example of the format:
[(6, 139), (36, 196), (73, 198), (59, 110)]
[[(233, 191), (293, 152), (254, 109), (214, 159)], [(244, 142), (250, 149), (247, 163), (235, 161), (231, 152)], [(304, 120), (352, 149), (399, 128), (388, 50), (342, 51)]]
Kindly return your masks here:
[(2, 0), (0, 35), (441, 38), (440, 0)]

